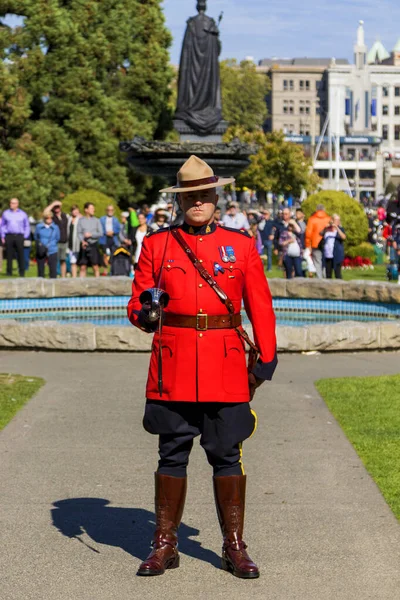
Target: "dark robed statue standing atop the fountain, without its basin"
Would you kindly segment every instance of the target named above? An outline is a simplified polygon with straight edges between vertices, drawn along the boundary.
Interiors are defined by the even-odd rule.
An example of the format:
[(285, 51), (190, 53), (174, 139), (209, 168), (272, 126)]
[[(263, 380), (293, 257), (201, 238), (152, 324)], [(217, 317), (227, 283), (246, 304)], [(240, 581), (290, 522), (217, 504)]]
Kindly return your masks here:
[(218, 57), (219, 30), (205, 14), (206, 0), (198, 0), (198, 15), (187, 22), (179, 67), (178, 103), (175, 119), (199, 135), (213, 132), (222, 120)]

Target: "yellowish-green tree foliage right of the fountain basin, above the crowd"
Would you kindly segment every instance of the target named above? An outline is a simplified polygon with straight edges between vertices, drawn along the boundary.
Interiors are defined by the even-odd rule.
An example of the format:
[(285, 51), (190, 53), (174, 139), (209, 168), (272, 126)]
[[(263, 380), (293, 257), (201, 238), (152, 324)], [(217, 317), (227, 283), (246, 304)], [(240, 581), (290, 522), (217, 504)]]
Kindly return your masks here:
[(320, 180), (312, 172), (311, 159), (304, 155), (301, 146), (286, 142), (282, 132), (246, 132), (238, 128), (227, 131), (228, 141), (235, 137), (257, 149), (250, 157), (250, 166), (238, 177), (239, 186), (297, 198), (302, 190), (312, 192), (318, 187)]

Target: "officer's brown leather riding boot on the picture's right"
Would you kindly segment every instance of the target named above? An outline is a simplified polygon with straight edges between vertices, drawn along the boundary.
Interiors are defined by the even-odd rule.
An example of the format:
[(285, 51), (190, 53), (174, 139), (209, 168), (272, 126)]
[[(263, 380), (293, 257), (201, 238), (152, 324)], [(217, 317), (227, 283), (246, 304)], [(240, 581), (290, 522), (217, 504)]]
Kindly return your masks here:
[(247, 554), (247, 546), (242, 539), (246, 475), (214, 477), (214, 494), (224, 539), (222, 568), (242, 579), (259, 577), (258, 567)]

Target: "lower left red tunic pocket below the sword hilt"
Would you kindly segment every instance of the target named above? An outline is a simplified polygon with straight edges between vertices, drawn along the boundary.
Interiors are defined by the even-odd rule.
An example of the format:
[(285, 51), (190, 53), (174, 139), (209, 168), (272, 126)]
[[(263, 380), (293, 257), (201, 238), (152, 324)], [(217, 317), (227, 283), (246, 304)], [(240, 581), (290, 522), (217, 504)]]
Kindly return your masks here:
[[(175, 335), (172, 333), (163, 333), (162, 342), (162, 378), (163, 392), (169, 394), (172, 390), (175, 380)], [(154, 335), (151, 349), (149, 377), (147, 380), (146, 392), (158, 394), (158, 355), (160, 348), (160, 338), (158, 334)], [(162, 398), (160, 398), (162, 399)]]

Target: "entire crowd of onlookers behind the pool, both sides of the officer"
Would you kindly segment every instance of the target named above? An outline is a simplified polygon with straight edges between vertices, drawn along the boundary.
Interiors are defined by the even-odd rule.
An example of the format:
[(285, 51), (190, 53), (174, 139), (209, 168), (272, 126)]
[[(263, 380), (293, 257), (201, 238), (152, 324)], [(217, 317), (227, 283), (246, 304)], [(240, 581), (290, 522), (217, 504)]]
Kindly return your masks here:
[[(233, 229), (244, 229), (254, 237), (258, 253), (272, 270), (273, 257), (284, 270), (287, 279), (292, 277), (342, 278), (345, 258), (346, 232), (340, 215), (329, 215), (318, 205), (306, 221), (301, 206), (283, 207), (275, 217), (269, 208), (254, 209), (228, 201), (224, 210), (217, 206), (214, 219)], [(368, 241), (381, 243), (396, 265), (400, 260), (400, 193), (397, 200), (389, 202), (386, 209), (366, 209), (369, 221)], [(96, 207), (88, 202), (81, 214), (78, 206), (69, 214), (62, 210), (62, 202), (55, 201), (35, 223), (12, 198), (9, 208), (0, 217), (0, 271), (3, 250), (6, 255), (6, 273), (12, 275), (13, 260), (17, 260), (20, 277), (29, 268), (30, 259), (37, 264), (38, 277), (44, 277), (47, 265), (51, 278), (86, 277), (89, 267), (96, 277), (100, 275), (134, 276), (144, 237), (152, 231), (179, 222), (173, 203), (161, 198), (158, 205), (131, 206), (115, 216), (112, 204), (106, 214), (98, 217)], [(31, 257), (32, 242), (35, 254)]]

